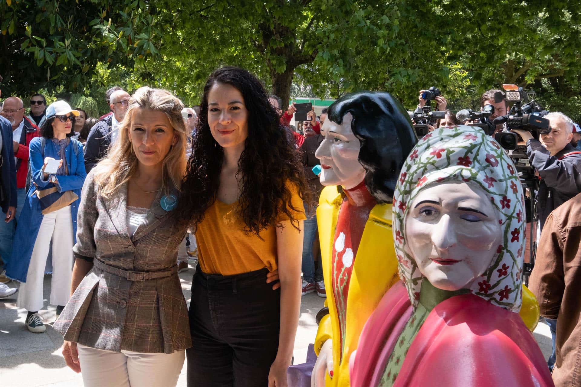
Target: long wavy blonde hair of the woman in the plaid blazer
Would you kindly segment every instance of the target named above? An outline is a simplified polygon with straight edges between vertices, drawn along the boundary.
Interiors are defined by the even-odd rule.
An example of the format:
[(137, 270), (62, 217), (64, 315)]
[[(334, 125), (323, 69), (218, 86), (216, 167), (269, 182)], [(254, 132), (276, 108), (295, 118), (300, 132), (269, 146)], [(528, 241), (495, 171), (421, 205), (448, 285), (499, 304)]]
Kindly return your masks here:
[(136, 114), (141, 109), (160, 111), (167, 115), (173, 126), (177, 142), (163, 158), (162, 192), (169, 194), (171, 190), (180, 189), (186, 168), (185, 147), (188, 131), (181, 111), (184, 104), (177, 97), (164, 89), (142, 87), (137, 89), (129, 100), (125, 118), (117, 130), (117, 139), (109, 149), (109, 154), (95, 166), (94, 181), (102, 197), (112, 196), (120, 186), (123, 186), (137, 171), (138, 160), (132, 151), (128, 130)]

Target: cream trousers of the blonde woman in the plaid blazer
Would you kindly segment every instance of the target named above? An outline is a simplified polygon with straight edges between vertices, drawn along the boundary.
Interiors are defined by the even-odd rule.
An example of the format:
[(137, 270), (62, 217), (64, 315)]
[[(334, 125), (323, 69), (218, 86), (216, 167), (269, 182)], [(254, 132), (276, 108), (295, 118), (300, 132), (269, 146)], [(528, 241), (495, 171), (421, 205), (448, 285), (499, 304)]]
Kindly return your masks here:
[(172, 387), (184, 366), (185, 350), (174, 353), (110, 352), (77, 343), (85, 387)]

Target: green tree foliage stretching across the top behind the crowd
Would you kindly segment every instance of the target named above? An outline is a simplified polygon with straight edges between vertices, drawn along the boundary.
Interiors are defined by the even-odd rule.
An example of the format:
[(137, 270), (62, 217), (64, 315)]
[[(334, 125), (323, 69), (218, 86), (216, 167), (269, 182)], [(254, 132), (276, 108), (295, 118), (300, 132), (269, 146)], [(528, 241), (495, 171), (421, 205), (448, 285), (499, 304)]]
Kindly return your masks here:
[(293, 93), (386, 90), (411, 108), (437, 86), (457, 110), (517, 83), (578, 115), (580, 10), (580, 0), (6, 1), (2, 91), (63, 87), (104, 113), (110, 86), (149, 85), (192, 106), (211, 71), (233, 65), (282, 99), (294, 79)]

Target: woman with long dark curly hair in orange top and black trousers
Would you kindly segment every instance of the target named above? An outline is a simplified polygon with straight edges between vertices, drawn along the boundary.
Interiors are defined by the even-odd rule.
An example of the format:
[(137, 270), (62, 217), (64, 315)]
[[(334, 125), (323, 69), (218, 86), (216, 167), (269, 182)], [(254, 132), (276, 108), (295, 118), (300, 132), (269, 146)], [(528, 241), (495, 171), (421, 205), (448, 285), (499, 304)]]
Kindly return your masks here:
[[(178, 214), (198, 241), (188, 386), (286, 386), (300, 310), (300, 158), (260, 81), (223, 67), (206, 82)], [(278, 270), (280, 288), (267, 284)]]

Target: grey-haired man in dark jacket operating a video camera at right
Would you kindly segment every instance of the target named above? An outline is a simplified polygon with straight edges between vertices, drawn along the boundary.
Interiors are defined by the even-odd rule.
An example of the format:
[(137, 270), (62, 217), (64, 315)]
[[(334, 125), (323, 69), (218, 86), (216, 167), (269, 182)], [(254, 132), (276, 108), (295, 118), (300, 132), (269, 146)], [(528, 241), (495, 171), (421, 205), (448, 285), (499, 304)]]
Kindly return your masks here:
[(537, 194), (541, 229), (548, 214), (581, 192), (581, 152), (571, 145), (573, 121), (560, 112), (544, 116), (551, 127), (540, 141), (529, 131), (512, 129), (526, 143), (526, 155), (539, 174)]

